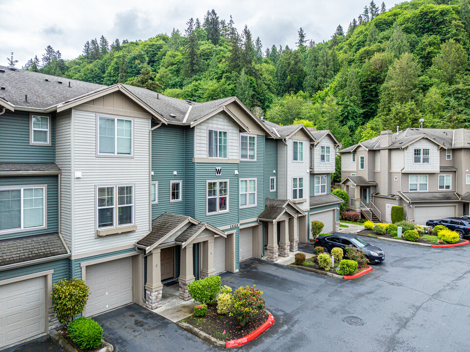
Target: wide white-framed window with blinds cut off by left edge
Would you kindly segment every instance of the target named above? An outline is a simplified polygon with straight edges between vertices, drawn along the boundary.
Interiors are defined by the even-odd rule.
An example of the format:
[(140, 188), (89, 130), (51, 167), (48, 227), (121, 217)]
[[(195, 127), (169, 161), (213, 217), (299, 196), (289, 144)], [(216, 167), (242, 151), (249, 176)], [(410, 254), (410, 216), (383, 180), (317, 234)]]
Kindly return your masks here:
[(0, 189), (0, 233), (46, 228), (46, 186)]

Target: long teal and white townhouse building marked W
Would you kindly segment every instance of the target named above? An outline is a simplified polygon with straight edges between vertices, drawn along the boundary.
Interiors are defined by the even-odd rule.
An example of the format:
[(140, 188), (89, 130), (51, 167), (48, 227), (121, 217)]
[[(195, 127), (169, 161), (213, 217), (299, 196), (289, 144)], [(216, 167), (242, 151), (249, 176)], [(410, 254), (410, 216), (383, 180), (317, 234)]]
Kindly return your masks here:
[(49, 293), (90, 287), (84, 316), (164, 304), (250, 258), (276, 261), (339, 223), (329, 131), (278, 126), (236, 97), (195, 103), (0, 66), (0, 348), (56, 327)]

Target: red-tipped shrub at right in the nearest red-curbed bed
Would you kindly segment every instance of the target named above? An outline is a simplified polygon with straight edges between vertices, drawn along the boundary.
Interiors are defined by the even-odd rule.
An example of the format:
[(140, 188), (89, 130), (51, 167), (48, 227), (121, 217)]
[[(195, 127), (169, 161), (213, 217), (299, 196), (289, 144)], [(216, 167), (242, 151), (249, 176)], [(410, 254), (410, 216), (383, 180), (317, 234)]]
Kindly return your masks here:
[(262, 294), (263, 291), (255, 286), (238, 287), (232, 297), (229, 315), (235, 316), (240, 326), (245, 326), (261, 309), (265, 308)]

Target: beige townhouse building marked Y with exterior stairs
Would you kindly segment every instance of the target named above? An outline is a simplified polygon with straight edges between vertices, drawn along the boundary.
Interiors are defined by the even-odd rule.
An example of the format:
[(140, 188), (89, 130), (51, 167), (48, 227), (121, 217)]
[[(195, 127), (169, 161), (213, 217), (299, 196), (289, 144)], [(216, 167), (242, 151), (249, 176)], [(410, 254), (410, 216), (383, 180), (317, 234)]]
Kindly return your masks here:
[(392, 206), (405, 218), (427, 220), (469, 214), (470, 131), (411, 128), (360, 142), (341, 153), (341, 187), (349, 209), (391, 222)]

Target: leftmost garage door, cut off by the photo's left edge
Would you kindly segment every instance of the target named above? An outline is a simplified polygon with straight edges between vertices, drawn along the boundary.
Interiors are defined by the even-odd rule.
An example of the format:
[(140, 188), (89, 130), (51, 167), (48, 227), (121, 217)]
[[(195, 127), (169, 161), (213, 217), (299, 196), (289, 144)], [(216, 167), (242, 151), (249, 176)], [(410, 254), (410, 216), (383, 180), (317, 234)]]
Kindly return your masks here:
[(1, 285), (0, 348), (45, 330), (45, 276)]

